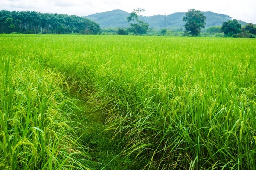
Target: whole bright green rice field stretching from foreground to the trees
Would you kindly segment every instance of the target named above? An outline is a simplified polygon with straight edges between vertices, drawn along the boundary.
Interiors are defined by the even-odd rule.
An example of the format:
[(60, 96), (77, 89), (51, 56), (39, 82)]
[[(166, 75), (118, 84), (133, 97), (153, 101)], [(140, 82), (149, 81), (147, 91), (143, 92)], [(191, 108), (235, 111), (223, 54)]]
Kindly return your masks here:
[[(120, 141), (111, 161), (92, 157), (77, 100)], [(120, 158), (116, 169), (256, 170), (256, 40), (1, 34), (0, 169)]]

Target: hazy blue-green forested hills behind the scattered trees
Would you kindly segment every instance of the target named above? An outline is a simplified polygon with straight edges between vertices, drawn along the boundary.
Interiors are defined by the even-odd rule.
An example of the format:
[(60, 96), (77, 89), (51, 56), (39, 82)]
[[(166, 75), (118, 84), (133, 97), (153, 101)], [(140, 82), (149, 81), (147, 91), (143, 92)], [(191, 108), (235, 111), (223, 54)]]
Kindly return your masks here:
[[(140, 20), (148, 23), (153, 28), (180, 28), (183, 27), (185, 22), (182, 21), (185, 12), (177, 12), (171, 15), (154, 15), (150, 17), (140, 16)], [(207, 17), (206, 27), (210, 26), (222, 26), (222, 23), (232, 18), (225, 14), (217, 14), (214, 12), (204, 12)], [(116, 27), (128, 27), (126, 17), (129, 16), (128, 12), (122, 10), (113, 10), (108, 12), (96, 13), (89, 15), (86, 18), (93, 20), (100, 24), (101, 28), (116, 28)], [(166, 17), (166, 21), (165, 21)], [(242, 26), (246, 25), (246, 22), (239, 21)]]

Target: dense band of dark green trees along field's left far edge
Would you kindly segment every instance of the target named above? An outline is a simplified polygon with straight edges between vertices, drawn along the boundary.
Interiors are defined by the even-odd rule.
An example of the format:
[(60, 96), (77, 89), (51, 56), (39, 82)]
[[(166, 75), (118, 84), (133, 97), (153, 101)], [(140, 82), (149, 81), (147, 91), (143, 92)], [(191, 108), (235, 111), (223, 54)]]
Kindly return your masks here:
[(99, 34), (99, 24), (76, 15), (0, 11), (0, 33)]

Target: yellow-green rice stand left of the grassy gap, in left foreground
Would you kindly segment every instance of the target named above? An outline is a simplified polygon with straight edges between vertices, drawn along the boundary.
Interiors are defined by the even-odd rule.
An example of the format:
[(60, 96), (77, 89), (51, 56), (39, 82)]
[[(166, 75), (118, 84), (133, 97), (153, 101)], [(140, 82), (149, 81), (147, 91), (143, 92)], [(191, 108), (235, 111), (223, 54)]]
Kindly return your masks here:
[(63, 94), (62, 74), (4, 48), (0, 82), (0, 169), (89, 169), (88, 149), (72, 121), (77, 107)]

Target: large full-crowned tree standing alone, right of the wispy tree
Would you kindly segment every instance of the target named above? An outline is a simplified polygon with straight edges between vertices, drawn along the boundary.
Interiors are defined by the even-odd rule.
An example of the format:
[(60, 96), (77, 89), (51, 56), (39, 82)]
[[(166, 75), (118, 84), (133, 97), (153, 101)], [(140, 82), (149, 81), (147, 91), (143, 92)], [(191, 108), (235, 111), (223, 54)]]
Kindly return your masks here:
[(206, 17), (199, 10), (189, 9), (182, 20), (186, 21), (186, 24), (184, 25), (185, 30), (191, 35), (198, 36), (201, 32), (201, 28), (205, 28), (204, 21), (206, 21)]

